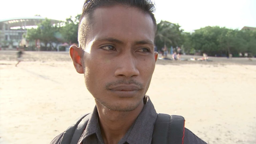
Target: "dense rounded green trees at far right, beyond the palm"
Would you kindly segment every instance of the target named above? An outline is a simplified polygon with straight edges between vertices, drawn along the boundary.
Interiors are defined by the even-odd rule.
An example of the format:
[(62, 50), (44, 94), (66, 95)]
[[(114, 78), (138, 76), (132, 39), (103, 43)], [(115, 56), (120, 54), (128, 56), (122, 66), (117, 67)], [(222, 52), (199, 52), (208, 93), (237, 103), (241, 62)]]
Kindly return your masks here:
[(187, 53), (200, 51), (209, 56), (238, 56), (238, 53), (256, 55), (256, 31), (227, 29), (219, 26), (201, 28), (192, 34), (182, 33), (183, 48)]

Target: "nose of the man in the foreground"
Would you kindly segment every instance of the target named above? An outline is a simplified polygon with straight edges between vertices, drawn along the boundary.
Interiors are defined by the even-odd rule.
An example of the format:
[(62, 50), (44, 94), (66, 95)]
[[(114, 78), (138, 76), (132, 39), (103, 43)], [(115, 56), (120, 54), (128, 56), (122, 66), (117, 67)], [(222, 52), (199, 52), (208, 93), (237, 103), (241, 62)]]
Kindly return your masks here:
[(118, 58), (115, 76), (134, 77), (138, 76), (139, 70), (136, 58), (132, 54), (124, 54)]

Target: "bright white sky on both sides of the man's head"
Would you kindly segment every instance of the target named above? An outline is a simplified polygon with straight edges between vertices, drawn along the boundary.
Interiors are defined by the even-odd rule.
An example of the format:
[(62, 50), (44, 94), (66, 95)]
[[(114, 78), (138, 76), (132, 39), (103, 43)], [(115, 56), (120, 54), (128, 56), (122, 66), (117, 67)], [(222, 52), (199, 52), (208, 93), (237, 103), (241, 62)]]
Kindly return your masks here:
[[(81, 13), (84, 0), (1, 0), (0, 19), (41, 15), (65, 20)], [(157, 22), (178, 23), (190, 32), (205, 26), (256, 27), (256, 0), (155, 0)]]

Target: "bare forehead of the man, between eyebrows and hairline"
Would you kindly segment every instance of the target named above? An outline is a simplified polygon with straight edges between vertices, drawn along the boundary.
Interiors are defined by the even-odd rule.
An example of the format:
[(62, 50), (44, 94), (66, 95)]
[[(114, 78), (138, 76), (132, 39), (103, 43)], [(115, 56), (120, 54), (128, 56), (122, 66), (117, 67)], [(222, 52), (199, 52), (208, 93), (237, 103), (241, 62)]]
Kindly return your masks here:
[(97, 37), (114, 37), (121, 40), (150, 39), (154, 42), (151, 16), (135, 7), (99, 7), (94, 10), (90, 21), (86, 37), (91, 40)]

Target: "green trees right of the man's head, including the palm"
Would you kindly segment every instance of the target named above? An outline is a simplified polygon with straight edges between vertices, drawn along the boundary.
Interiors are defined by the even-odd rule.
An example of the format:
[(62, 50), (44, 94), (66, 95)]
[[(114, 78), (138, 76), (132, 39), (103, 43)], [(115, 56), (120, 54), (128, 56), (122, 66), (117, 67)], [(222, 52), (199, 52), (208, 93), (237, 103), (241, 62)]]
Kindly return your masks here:
[(157, 24), (155, 44), (158, 50), (181, 47), (184, 53), (206, 53), (208, 56), (256, 56), (256, 31), (207, 26), (192, 33), (184, 32), (178, 24), (161, 21)]

